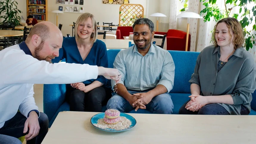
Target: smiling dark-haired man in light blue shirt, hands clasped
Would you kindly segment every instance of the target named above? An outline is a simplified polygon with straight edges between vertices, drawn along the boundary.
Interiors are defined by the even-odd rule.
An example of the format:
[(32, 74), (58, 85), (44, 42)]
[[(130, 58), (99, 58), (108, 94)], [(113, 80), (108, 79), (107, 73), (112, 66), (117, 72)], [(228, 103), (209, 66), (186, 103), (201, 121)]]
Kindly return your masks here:
[(114, 68), (123, 77), (116, 84), (117, 94), (110, 98), (107, 109), (129, 112), (141, 108), (155, 114), (171, 114), (174, 106), (168, 92), (173, 88), (175, 69), (171, 54), (151, 43), (151, 20), (139, 18), (132, 27), (135, 45), (121, 50), (115, 58)]

